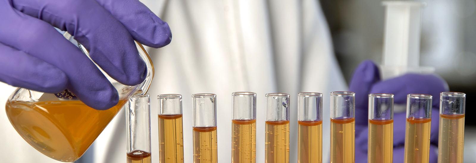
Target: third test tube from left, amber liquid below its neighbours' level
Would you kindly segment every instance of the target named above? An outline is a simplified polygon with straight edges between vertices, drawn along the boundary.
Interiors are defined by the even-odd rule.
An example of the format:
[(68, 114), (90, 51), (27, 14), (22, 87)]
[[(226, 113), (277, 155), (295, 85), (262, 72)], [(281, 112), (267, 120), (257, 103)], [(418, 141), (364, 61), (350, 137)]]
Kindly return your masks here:
[(217, 95), (194, 94), (193, 162), (218, 163)]

